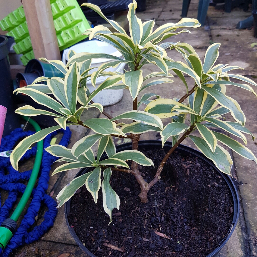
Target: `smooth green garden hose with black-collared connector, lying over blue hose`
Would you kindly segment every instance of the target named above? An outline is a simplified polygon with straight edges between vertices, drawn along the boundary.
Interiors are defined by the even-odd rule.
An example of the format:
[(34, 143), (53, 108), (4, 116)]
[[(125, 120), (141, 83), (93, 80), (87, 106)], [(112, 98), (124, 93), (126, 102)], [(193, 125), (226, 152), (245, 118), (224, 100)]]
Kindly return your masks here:
[[(41, 130), (38, 123), (36, 123), (31, 118), (29, 119), (26, 116), (22, 116), (22, 118), (26, 121), (29, 120), (29, 123), (35, 128), (36, 132)], [(7, 218), (0, 226), (0, 253), (3, 251), (3, 249), (5, 248), (5, 246), (7, 245), (7, 243), (9, 242), (9, 240), (12, 238), (12, 236), (16, 231), (17, 220), (20, 217), (22, 211), (24, 210), (25, 205), (27, 204), (27, 201), (29, 200), (29, 197), (34, 188), (36, 179), (38, 177), (41, 160), (42, 160), (42, 154), (43, 154), (43, 140), (37, 143), (36, 157), (35, 157), (33, 170), (32, 170), (29, 182), (26, 186), (26, 189), (21, 197), (21, 200), (17, 205), (17, 207), (15, 208), (12, 216), (10, 218)]]

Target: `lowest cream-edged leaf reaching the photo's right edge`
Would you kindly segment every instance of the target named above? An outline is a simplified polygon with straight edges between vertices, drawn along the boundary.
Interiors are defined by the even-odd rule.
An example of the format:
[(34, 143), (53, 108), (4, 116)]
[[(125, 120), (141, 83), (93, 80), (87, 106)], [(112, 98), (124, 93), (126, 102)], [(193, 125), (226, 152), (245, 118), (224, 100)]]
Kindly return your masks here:
[(248, 160), (255, 161), (257, 164), (257, 159), (248, 148), (246, 148), (244, 145), (240, 144), (236, 140), (230, 138), (229, 136), (226, 136), (222, 133), (218, 133), (213, 131), (214, 135), (216, 136), (217, 140), (226, 146), (228, 146), (230, 149), (238, 153), (239, 155), (243, 156), (244, 158)]

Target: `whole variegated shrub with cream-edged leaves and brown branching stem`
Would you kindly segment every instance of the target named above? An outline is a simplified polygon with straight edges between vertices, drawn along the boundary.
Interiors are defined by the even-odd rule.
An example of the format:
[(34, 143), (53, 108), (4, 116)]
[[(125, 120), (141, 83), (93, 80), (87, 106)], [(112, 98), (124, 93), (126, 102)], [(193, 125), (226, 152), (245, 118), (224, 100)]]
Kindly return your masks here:
[[(143, 203), (148, 201), (147, 193), (149, 189), (161, 179), (162, 168), (170, 154), (176, 147), (189, 137), (197, 148), (222, 172), (231, 175), (232, 159), (221, 145), (217, 142), (228, 146), (246, 159), (253, 160), (257, 163), (254, 154), (247, 149), (242, 143), (237, 142), (225, 134), (215, 132), (212, 128), (218, 127), (222, 130), (238, 137), (246, 144), (244, 133), (252, 133), (244, 127), (245, 115), (239, 104), (231, 97), (226, 96), (226, 85), (233, 85), (244, 88), (255, 94), (252, 87), (257, 84), (249, 78), (241, 75), (228, 74), (229, 71), (241, 69), (237, 66), (228, 66), (218, 64), (215, 61), (218, 58), (218, 49), (220, 44), (212, 44), (206, 51), (204, 63), (201, 62), (195, 50), (186, 43), (160, 43), (172, 35), (177, 35), (188, 30), (180, 30), (183, 27), (199, 27), (200, 24), (195, 19), (183, 18), (180, 22), (173, 24), (168, 23), (158, 27), (153, 32), (154, 21), (147, 21), (142, 24), (141, 20), (135, 15), (137, 7), (136, 2), (129, 5), (128, 21), (130, 25), (130, 36), (116, 23), (108, 20), (98, 6), (85, 3), (87, 6), (102, 16), (109, 24), (112, 25), (116, 32), (111, 32), (107, 27), (102, 25), (85, 31), (89, 39), (96, 38), (111, 44), (123, 55), (124, 59), (101, 53), (78, 53), (70, 51), (69, 60), (65, 66), (60, 61), (48, 61), (59, 69), (65, 78), (45, 78), (36, 79), (32, 85), (16, 89), (15, 92), (29, 95), (37, 103), (47, 106), (53, 112), (34, 109), (31, 106), (23, 106), (16, 110), (16, 113), (35, 116), (40, 114), (54, 116), (57, 126), (45, 128), (22, 140), (11, 154), (11, 163), (18, 169), (18, 161), (25, 151), (34, 143), (42, 140), (49, 133), (59, 128), (66, 129), (71, 124), (79, 124), (90, 128), (94, 134), (87, 135), (74, 144), (71, 149), (61, 145), (51, 145), (46, 151), (61, 157), (58, 162), (65, 162), (54, 170), (53, 174), (61, 171), (93, 167), (92, 171), (72, 180), (65, 186), (57, 196), (59, 206), (63, 205), (70, 199), (76, 190), (86, 184), (86, 188), (92, 194), (95, 203), (98, 199), (98, 191), (102, 187), (103, 205), (106, 213), (112, 221), (112, 210), (119, 209), (120, 199), (109, 184), (109, 179), (114, 172), (132, 173), (141, 187), (140, 199)], [(174, 61), (167, 57), (165, 49), (180, 52), (185, 62)], [(174, 50), (173, 50), (174, 51)], [(91, 66), (93, 58), (111, 59), (101, 65), (97, 71), (89, 74), (94, 67)], [(127, 63), (129, 71), (125, 74), (120, 72), (108, 72), (109, 67), (116, 67), (120, 63)], [(143, 75), (142, 67), (145, 64), (152, 64), (160, 69), (159, 72)], [(182, 80), (186, 86), (187, 93), (179, 98), (167, 99), (161, 98), (153, 93), (145, 93), (138, 100), (139, 93), (152, 86), (162, 83), (171, 83), (173, 77), (169, 72), (173, 71)], [(189, 90), (184, 74), (194, 79), (194, 85)], [(108, 76), (95, 91), (89, 92), (86, 84), (88, 80), (95, 86), (96, 79), (99, 76)], [(148, 83), (143, 82), (148, 79), (159, 77)], [(243, 81), (235, 83), (230, 78)], [(46, 81), (47, 85), (38, 84)], [(247, 84), (245, 84), (247, 83)], [(116, 117), (111, 117), (103, 111), (103, 106), (92, 102), (93, 97), (103, 89), (128, 89), (132, 96), (133, 110), (122, 113)], [(178, 92), (179, 94), (180, 92)], [(54, 98), (48, 94), (53, 94)], [(256, 94), (255, 94), (256, 96)], [(151, 100), (152, 97), (157, 99)], [(185, 100), (187, 99), (187, 102)], [(78, 107), (77, 102), (80, 104)], [(145, 104), (144, 111), (138, 111), (137, 108)], [(93, 118), (81, 120), (81, 114), (85, 109), (97, 108), (107, 118)], [(231, 113), (234, 122), (224, 120), (223, 115)], [(170, 118), (170, 123), (163, 126), (162, 119)], [(130, 119), (132, 123), (120, 123), (118, 120)], [(192, 135), (192, 132), (198, 130), (201, 137)], [(155, 176), (149, 183), (146, 182), (138, 170), (138, 164), (151, 166), (153, 162), (138, 151), (138, 141), (142, 133), (148, 131), (160, 132), (162, 144), (170, 138), (173, 146), (164, 157), (157, 169)], [(253, 136), (253, 135), (252, 135)], [(123, 137), (132, 140), (132, 149), (116, 153), (113, 137)], [(92, 146), (98, 142), (97, 157), (94, 157)], [(106, 152), (107, 159), (100, 160), (103, 153)], [(127, 164), (131, 160), (131, 166)], [(101, 172), (103, 170), (103, 181), (101, 181)]]

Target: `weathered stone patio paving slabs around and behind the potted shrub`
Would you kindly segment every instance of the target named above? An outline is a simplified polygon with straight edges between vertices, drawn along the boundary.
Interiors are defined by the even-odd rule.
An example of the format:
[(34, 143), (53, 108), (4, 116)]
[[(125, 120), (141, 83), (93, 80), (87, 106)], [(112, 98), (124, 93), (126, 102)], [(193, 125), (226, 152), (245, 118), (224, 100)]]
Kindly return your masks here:
[[(137, 15), (143, 21), (155, 19), (154, 29), (157, 29), (157, 27), (164, 23), (175, 23), (181, 19), (182, 0), (148, 0), (146, 4), (146, 11), (138, 13)], [(189, 6), (188, 17), (196, 18), (197, 7), (198, 1), (192, 0)], [(229, 63), (230, 65), (241, 66), (244, 70), (235, 71), (237, 74), (247, 76), (254, 81), (257, 81), (257, 50), (251, 47), (251, 43), (256, 42), (256, 39), (253, 38), (253, 31), (239, 31), (235, 29), (237, 22), (248, 16), (250, 16), (250, 11), (243, 12), (239, 8), (235, 8), (231, 13), (224, 13), (222, 11), (217, 11), (214, 7), (210, 6), (208, 10), (208, 22), (203, 27), (191, 29), (191, 34), (182, 33), (173, 36), (169, 40), (172, 42), (180, 41), (191, 44), (202, 60), (204, 60), (205, 51), (209, 47), (210, 42), (222, 43), (219, 50), (219, 58), (216, 63)], [(169, 42), (169, 40), (166, 41)], [(182, 60), (181, 55), (175, 50), (167, 51), (167, 53), (169, 57), (176, 61)], [(152, 65), (147, 65), (143, 68), (143, 74), (154, 71), (159, 70)], [(186, 80), (189, 85), (192, 85), (192, 79), (186, 77)], [(256, 88), (254, 88), (254, 90), (257, 92)], [(173, 97), (183, 96), (185, 94), (185, 86), (183, 86), (179, 78), (175, 76), (172, 84), (167, 83), (153, 86), (151, 87), (151, 92), (158, 93), (161, 97), (172, 99)], [(232, 96), (240, 104), (247, 118), (246, 127), (257, 137), (257, 101), (255, 96), (250, 95), (249, 91), (232, 86), (227, 87), (227, 95)], [(131, 108), (132, 102), (130, 93), (128, 90), (124, 90), (124, 97), (122, 100), (113, 106), (105, 107), (105, 111), (112, 116), (116, 116), (131, 110)], [(143, 108), (144, 106), (141, 105), (140, 109), (143, 110)], [(85, 115), (98, 117), (100, 113), (90, 112)], [(100, 117), (105, 116), (101, 114)], [(229, 120), (230, 118), (231, 117), (227, 115), (226, 119)], [(69, 148), (71, 148), (78, 139), (90, 133), (87, 129), (75, 125), (71, 127), (71, 130), (72, 138), (68, 146)], [(155, 132), (149, 132), (141, 136), (141, 140), (146, 139), (160, 139), (160, 136)], [(127, 141), (128, 140), (116, 140), (116, 143), (120, 144)], [(250, 137), (247, 137), (247, 141), (247, 147), (257, 155), (256, 143), (254, 143)], [(192, 141), (185, 140), (183, 143), (194, 147)], [(232, 153), (232, 157), (234, 159), (235, 167), (233, 171), (234, 182), (240, 196), (240, 218), (230, 240), (218, 256), (257, 256), (257, 167), (253, 161), (246, 160), (236, 153)], [(52, 167), (52, 170), (53, 169), (54, 167)], [(48, 192), (54, 191), (54, 199), (61, 188), (70, 182), (76, 173), (77, 170), (67, 171), (62, 172), (60, 177), (56, 175), (50, 178)], [(37, 223), (40, 222), (41, 219), (39, 217)], [(86, 254), (79, 249), (70, 235), (65, 221), (64, 207), (61, 207), (59, 208), (54, 226), (41, 238), (41, 240), (30, 245), (19, 247), (13, 252), (13, 256), (56, 257), (63, 253), (69, 253), (69, 256), (86, 256)]]

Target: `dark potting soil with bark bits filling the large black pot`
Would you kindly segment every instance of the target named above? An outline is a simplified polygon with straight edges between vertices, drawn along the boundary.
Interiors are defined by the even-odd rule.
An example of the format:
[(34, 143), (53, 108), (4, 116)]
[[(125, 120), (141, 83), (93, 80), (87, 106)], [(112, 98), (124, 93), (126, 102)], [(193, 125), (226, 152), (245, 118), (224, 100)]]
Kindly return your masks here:
[[(154, 162), (155, 168), (139, 166), (143, 178), (150, 182), (165, 152), (142, 152)], [(70, 226), (98, 257), (205, 257), (219, 246), (231, 226), (233, 204), (228, 186), (212, 167), (197, 158), (172, 154), (161, 179), (148, 192), (146, 204), (138, 197), (140, 186), (133, 175), (113, 171), (110, 180), (121, 203), (120, 210), (113, 210), (109, 226), (101, 190), (97, 205), (85, 186), (70, 203)]]

